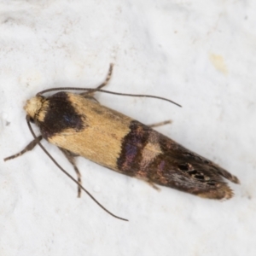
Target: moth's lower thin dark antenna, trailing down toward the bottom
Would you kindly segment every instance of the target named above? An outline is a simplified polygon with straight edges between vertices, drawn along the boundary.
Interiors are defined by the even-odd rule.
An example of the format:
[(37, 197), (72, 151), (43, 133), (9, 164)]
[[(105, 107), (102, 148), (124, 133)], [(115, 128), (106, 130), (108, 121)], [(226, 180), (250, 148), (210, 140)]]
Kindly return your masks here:
[[(29, 120), (29, 119), (30, 119), (30, 118), (29, 118), (29, 116), (27, 115), (27, 116), (26, 116), (26, 123), (27, 123), (27, 125), (28, 125), (29, 130), (30, 130), (31, 133), (32, 133), (32, 136), (36, 139), (37, 137), (36, 137), (34, 131), (32, 131), (32, 126), (31, 126), (31, 124), (30, 124), (30, 120)], [(90, 194), (89, 191), (87, 191), (86, 189), (84, 189), (84, 187), (83, 187), (81, 184), (79, 184), (79, 182), (78, 182), (75, 178), (73, 178), (67, 171), (65, 171), (65, 170), (56, 162), (56, 160), (49, 154), (49, 152), (44, 148), (44, 146), (43, 146), (40, 142), (38, 142), (38, 145), (39, 145), (40, 148), (42, 148), (42, 149), (44, 150), (44, 153), (49, 156), (49, 159), (52, 160), (52, 161), (55, 163), (55, 165), (58, 166), (58, 167), (61, 169), (61, 171), (64, 172), (64, 173), (67, 175), (67, 177), (71, 178), (74, 183), (76, 183), (77, 185), (79, 185), (79, 187), (80, 187), (82, 190), (84, 190), (84, 192), (85, 192), (87, 195), (89, 195), (90, 198), (91, 198), (93, 201), (95, 201), (96, 204), (97, 204), (99, 207), (101, 207), (105, 212), (108, 212), (108, 214), (110, 214), (110, 215), (111, 215), (112, 217), (114, 217), (114, 218), (119, 218), (119, 219), (121, 219), (121, 220), (128, 221), (128, 219), (126, 219), (126, 218), (120, 218), (119, 216), (114, 215), (112, 212), (109, 212), (108, 209), (106, 209), (105, 207), (103, 207), (102, 204), (101, 204), (99, 201), (96, 201), (96, 198), (93, 197), (93, 196)]]

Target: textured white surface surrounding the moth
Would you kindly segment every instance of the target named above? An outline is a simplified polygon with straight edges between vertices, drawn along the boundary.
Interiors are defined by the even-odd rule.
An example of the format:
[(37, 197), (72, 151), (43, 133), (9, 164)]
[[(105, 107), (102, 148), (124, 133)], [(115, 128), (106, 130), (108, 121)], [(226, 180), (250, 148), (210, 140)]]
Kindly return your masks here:
[[(79, 159), (84, 186), (108, 216), (35, 148), (0, 161), (0, 255), (255, 255), (256, 3), (248, 1), (1, 1), (0, 158), (32, 140), (26, 99), (54, 86), (99, 94), (241, 180), (230, 201), (207, 201)], [(62, 154), (44, 143), (62, 166)]]

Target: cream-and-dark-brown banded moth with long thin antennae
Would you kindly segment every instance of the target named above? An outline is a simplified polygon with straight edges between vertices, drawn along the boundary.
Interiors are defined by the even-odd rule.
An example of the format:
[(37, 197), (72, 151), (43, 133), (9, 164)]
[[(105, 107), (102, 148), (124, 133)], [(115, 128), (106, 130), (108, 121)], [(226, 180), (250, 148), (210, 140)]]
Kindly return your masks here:
[[(43, 90), (28, 100), (24, 109), (34, 140), (19, 154), (9, 156), (5, 160), (14, 159), (32, 150), (37, 144), (49, 155), (40, 143), (44, 138), (60, 148), (73, 165), (77, 180), (49, 155), (51, 160), (78, 184), (79, 196), (81, 189), (88, 195), (90, 193), (82, 186), (79, 168), (75, 164), (76, 156), (83, 156), (113, 171), (141, 178), (154, 186), (166, 186), (209, 199), (230, 199), (233, 192), (224, 178), (239, 183), (236, 176), (152, 127), (96, 101), (96, 91), (133, 96), (102, 90), (102, 87), (108, 84), (112, 69), (113, 65), (110, 65), (107, 79), (95, 89), (52, 88)], [(51, 96), (43, 96), (54, 90), (60, 91)], [(78, 94), (67, 90), (85, 92)], [(148, 97), (172, 102), (158, 96)], [(40, 136), (36, 137), (30, 122), (38, 125)], [(102, 208), (108, 212), (106, 208)]]

